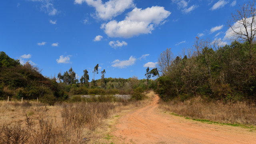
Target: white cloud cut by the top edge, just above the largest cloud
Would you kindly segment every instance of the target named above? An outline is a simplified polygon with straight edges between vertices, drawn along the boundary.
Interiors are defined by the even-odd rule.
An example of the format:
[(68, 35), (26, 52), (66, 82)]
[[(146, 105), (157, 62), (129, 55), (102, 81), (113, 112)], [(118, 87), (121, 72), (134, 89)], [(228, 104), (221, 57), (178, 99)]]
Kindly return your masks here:
[(122, 14), (124, 10), (134, 7), (133, 0), (109, 0), (102, 4), (102, 0), (75, 0), (75, 4), (86, 2), (96, 9), (96, 16), (103, 20), (111, 20)]

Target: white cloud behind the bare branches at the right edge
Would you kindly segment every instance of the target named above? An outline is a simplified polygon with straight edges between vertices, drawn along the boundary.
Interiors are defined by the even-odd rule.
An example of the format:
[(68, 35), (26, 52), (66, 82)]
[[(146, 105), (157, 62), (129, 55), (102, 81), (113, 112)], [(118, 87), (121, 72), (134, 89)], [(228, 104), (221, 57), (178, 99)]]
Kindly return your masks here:
[[(246, 18), (246, 20), (243, 20), (245, 21), (245, 24), (246, 24), (246, 29), (248, 31), (248, 35), (250, 36), (251, 33), (251, 24), (252, 24), (252, 30), (254, 33), (255, 33), (255, 29), (256, 29), (256, 22), (252, 22), (252, 17), (250, 18)], [(239, 20), (238, 22), (234, 23), (232, 28), (228, 28), (228, 30), (226, 31), (226, 35), (224, 36), (224, 38), (226, 39), (232, 39), (232, 40), (235, 40), (236, 38), (238, 38), (238, 34), (242, 34), (242, 35), (239, 35), (240, 39), (246, 39), (246, 36), (244, 35), (247, 35), (246, 34), (246, 29), (244, 28), (244, 25), (243, 25), (243, 21), (242, 20)], [(234, 32), (235, 31), (235, 32)]]

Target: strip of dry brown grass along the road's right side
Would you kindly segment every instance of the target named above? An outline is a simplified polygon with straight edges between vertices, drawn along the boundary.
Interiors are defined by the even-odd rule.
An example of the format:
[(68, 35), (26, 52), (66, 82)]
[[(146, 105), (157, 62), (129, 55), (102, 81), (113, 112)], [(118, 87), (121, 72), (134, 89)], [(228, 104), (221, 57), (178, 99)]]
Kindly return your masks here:
[(184, 102), (160, 102), (160, 108), (189, 118), (256, 125), (256, 104), (253, 102), (205, 102), (195, 97)]

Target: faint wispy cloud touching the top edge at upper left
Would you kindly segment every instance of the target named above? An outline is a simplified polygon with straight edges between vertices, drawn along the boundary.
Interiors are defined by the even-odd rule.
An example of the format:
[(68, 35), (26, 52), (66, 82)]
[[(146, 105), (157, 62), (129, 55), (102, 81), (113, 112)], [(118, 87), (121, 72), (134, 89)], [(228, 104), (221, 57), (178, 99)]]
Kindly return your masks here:
[(40, 9), (43, 12), (48, 13), (49, 16), (54, 16), (59, 12), (56, 8), (54, 8), (53, 4), (51, 3), (52, 0), (31, 0), (31, 1), (41, 2)]

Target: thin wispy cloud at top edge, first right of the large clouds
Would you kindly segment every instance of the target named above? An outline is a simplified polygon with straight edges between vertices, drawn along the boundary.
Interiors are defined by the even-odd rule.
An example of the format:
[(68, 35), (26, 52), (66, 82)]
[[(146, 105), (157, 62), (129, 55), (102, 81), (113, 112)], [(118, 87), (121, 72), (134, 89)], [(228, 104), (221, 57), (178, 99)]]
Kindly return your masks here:
[(172, 0), (172, 2), (177, 4), (178, 9), (179, 10), (181, 9), (181, 11), (186, 14), (198, 7), (197, 5), (192, 5), (192, 6), (188, 7), (188, 3), (190, 1), (186, 1), (186, 0)]

